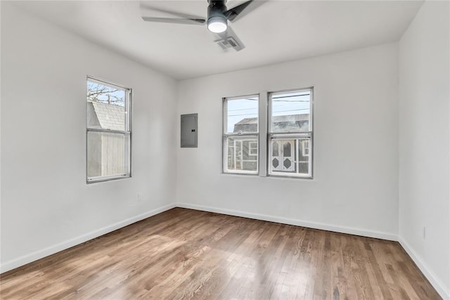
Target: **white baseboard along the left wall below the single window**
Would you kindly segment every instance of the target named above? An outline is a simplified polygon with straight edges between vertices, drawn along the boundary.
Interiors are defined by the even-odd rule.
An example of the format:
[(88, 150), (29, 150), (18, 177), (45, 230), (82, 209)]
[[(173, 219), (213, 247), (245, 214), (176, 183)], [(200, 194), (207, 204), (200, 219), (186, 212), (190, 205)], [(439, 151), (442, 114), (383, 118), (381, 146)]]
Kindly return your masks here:
[(80, 235), (79, 237), (75, 237), (71, 240), (67, 240), (65, 242), (61, 242), (59, 244), (55, 244), (53, 246), (47, 247), (45, 249), (41, 249), (36, 252), (32, 252), (30, 254), (20, 256), (17, 259), (13, 259), (11, 261), (6, 261), (5, 263), (1, 264), (0, 266), (0, 273), (4, 273), (8, 270), (13, 270), (14, 268), (18, 268), (20, 266), (24, 266), (27, 263), (31, 263), (32, 261), (37, 261), (38, 259), (42, 259), (46, 256), (49, 256), (51, 254), (55, 254), (56, 252), (63, 251), (65, 249), (68, 249), (70, 247), (76, 246), (77, 244), (82, 244), (83, 242), (87, 242), (88, 240), (92, 240), (96, 237), (99, 237), (101, 235), (105, 235), (106, 233), (110, 233), (114, 230), (120, 229), (122, 227), (128, 226), (132, 223), (136, 223), (138, 221), (141, 221), (143, 219), (147, 219), (150, 216), (154, 216), (155, 214), (160, 214), (163, 211), (167, 211), (169, 209), (172, 209), (176, 207), (175, 204), (169, 204), (165, 207), (160, 207), (158, 209), (153, 209), (151, 211), (147, 211), (146, 213), (139, 214), (138, 216), (134, 216), (129, 219), (125, 219), (123, 221), (111, 224), (109, 226), (105, 226), (103, 228), (100, 228), (98, 230), (94, 230), (90, 233), (86, 233), (85, 235)]

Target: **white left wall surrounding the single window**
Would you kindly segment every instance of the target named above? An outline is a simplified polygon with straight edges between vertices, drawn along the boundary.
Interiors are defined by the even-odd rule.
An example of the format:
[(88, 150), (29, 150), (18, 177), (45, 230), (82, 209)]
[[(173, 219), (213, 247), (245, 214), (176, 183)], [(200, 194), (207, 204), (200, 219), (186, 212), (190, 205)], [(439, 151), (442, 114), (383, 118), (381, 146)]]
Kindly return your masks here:
[[(134, 91), (132, 178), (86, 185), (87, 74)], [(2, 272), (172, 207), (174, 80), (4, 1), (1, 79)]]

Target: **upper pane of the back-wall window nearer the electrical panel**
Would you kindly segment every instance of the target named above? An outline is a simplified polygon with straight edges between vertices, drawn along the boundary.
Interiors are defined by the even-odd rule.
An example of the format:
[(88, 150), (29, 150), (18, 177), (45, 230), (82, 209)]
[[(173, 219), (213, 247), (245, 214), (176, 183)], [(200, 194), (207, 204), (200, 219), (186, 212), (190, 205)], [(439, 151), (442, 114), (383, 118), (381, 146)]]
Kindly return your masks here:
[(258, 132), (258, 96), (226, 100), (226, 133)]

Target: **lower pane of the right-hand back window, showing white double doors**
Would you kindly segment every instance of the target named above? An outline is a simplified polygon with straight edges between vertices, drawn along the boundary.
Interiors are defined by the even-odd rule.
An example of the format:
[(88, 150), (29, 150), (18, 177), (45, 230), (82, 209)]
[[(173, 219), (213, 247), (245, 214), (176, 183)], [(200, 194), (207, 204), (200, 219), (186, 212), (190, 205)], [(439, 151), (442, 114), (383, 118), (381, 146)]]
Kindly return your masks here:
[(310, 138), (273, 138), (269, 159), (272, 174), (308, 176)]

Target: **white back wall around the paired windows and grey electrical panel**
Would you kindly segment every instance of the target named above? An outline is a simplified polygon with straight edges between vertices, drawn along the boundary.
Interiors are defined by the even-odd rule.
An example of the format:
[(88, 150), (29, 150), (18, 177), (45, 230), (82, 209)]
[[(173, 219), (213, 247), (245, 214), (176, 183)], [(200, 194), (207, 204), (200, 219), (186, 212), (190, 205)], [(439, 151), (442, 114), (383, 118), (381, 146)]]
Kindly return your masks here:
[[(397, 239), (397, 55), (386, 44), (181, 81), (178, 112), (198, 112), (199, 138), (178, 149), (179, 205)], [(221, 98), (307, 86), (314, 179), (220, 174)]]

